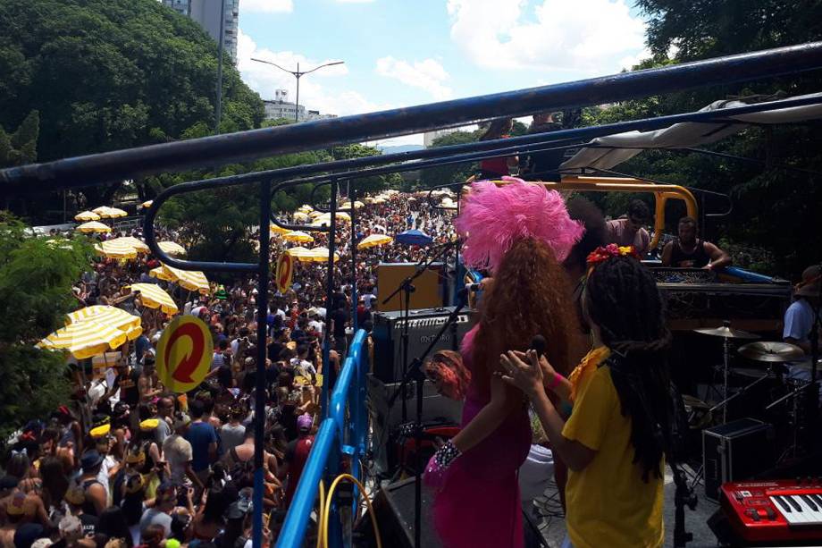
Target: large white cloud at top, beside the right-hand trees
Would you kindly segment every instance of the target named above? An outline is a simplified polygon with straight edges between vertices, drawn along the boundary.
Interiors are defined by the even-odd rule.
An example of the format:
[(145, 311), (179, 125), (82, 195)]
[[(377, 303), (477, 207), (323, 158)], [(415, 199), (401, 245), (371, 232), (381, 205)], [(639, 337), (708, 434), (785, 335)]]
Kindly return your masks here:
[(626, 0), (448, 0), (451, 39), (493, 69), (618, 72), (645, 24)]

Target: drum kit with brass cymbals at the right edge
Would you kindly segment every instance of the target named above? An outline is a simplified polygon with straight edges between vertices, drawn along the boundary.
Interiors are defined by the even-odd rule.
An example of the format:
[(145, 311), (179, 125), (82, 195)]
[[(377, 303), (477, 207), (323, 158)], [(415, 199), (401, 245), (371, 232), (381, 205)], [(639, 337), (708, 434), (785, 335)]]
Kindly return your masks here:
[[(730, 322), (727, 321), (724, 322), (724, 325), (721, 327), (695, 329), (694, 332), (712, 337), (720, 337), (723, 339), (723, 381), (722, 400), (713, 406), (709, 406), (708, 404), (694, 399), (696, 401), (693, 402), (693, 405), (688, 406), (692, 409), (692, 418), (698, 418), (700, 421), (707, 424), (713, 420), (717, 411), (722, 409), (722, 423), (724, 424), (727, 422), (728, 404), (731, 401), (740, 398), (743, 394), (749, 392), (754, 386), (767, 381), (767, 379), (771, 379), (775, 380), (776, 384), (781, 386), (779, 393), (783, 393), (784, 395), (767, 404), (767, 406), (762, 408), (762, 410), (769, 411), (785, 400), (793, 399), (793, 412), (789, 412), (793, 415), (793, 420), (791, 422), (794, 426), (793, 437), (795, 440), (795, 429), (799, 422), (797, 417), (797, 401), (799, 398), (797, 398), (797, 396), (808, 389), (810, 384), (816, 383), (816, 375), (815, 372), (811, 372), (811, 369), (813, 368), (811, 367), (811, 364), (796, 364), (796, 362), (803, 362), (807, 360), (805, 352), (800, 347), (793, 344), (788, 344), (786, 342), (746, 342), (736, 350), (736, 353), (742, 358), (757, 362), (759, 367), (730, 367), (731, 341), (752, 341), (754, 339), (759, 339), (759, 335), (748, 333), (746, 331), (742, 331), (741, 329), (735, 329), (731, 327)], [(788, 375), (788, 368), (785, 367), (789, 364), (792, 366), (791, 369), (808, 369), (810, 375), (802, 376), (808, 376), (809, 380), (791, 378), (790, 375)], [(764, 370), (761, 368), (763, 366)], [(748, 379), (753, 378), (754, 380), (750, 384), (745, 384), (740, 387), (732, 394), (729, 392), (728, 386), (729, 377), (731, 375), (736, 377), (747, 377)]]

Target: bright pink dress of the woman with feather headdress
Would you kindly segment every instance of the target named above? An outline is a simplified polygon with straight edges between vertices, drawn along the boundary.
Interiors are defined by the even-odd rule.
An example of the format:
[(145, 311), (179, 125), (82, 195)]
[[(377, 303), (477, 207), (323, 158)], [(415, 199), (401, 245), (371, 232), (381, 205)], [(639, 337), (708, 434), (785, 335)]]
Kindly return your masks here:
[[(478, 328), (477, 325), (466, 333), (461, 349), (466, 367), (472, 373), (474, 367), (482, 367), (472, 358)], [(466, 426), (490, 400), (491, 394), (482, 391), (472, 380), (461, 426)], [(521, 548), (524, 545), (516, 474), (528, 456), (531, 435), (523, 406), (446, 470), (432, 507), (434, 527), (443, 546)]]

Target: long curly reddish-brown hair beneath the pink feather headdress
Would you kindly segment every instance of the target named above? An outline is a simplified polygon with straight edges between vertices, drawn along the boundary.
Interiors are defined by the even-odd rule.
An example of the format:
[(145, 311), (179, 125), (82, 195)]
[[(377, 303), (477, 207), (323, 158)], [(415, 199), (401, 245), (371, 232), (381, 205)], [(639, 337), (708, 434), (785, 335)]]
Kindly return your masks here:
[(551, 365), (566, 374), (575, 313), (565, 270), (553, 251), (540, 240), (518, 240), (493, 274), (495, 282), (482, 297), (474, 339), (474, 363), (479, 366), (474, 367), (474, 382), (487, 390), (491, 372), (499, 368), (499, 355), (527, 350), (537, 334), (548, 341)]

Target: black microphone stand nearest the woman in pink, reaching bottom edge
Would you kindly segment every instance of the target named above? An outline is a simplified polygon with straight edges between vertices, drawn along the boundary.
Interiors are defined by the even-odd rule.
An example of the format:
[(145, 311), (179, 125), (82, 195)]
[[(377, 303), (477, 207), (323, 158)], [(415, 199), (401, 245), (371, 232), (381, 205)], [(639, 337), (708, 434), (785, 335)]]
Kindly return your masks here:
[[(389, 400), (389, 409), (394, 403), (394, 400), (398, 398), (398, 395), (403, 392), (404, 388), (407, 384), (411, 383), (411, 381), (416, 381), (416, 421), (412, 423), (413, 432), (414, 432), (414, 447), (415, 447), (415, 470), (414, 470), (414, 477), (415, 477), (415, 485), (414, 485), (414, 546), (415, 548), (420, 548), (421, 544), (421, 535), (423, 529), (423, 462), (422, 456), (420, 451), (420, 445), (422, 444), (423, 439), (423, 385), (425, 383), (425, 374), (423, 372), (423, 364), (425, 358), (428, 357), (428, 354), (431, 353), (431, 350), (437, 345), (437, 342), (440, 341), (440, 337), (449, 329), (451, 325), (457, 321), (460, 312), (462, 312), (463, 308), (466, 308), (467, 302), (467, 293), (466, 291), (460, 291), (459, 294), (459, 303), (457, 304), (457, 308), (454, 308), (454, 311), (451, 312), (448, 319), (445, 323), (440, 327), (440, 331), (437, 332), (432, 338), (432, 341), (428, 344), (428, 348), (423, 350), (423, 353), (414, 358), (414, 361), (411, 362), (411, 366), (408, 367), (406, 375), (403, 376), (402, 383), (398, 386), (397, 390), (391, 395)], [(405, 408), (405, 398), (403, 398), (403, 405)], [(403, 429), (407, 430), (407, 425), (403, 425)]]

